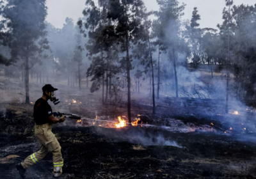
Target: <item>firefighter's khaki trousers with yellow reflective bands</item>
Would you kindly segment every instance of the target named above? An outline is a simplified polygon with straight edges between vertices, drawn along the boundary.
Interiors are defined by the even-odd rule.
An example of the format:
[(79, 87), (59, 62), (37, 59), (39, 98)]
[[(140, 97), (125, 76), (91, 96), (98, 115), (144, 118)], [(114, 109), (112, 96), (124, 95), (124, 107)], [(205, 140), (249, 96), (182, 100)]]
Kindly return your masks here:
[(52, 133), (52, 125), (46, 123), (44, 125), (36, 125), (34, 128), (36, 139), (39, 143), (39, 151), (29, 155), (21, 164), (24, 169), (33, 166), (40, 160), (44, 159), (49, 151), (52, 152), (53, 158), (53, 175), (58, 177), (62, 173), (63, 158), (61, 155), (61, 146), (55, 135)]

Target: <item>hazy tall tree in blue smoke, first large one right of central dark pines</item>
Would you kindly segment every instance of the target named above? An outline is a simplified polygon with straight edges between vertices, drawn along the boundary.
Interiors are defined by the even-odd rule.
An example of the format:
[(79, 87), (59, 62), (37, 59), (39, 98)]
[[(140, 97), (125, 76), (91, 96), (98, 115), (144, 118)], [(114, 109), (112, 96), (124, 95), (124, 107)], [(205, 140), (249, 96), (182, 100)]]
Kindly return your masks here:
[(183, 15), (185, 4), (179, 6), (177, 0), (157, 0), (160, 6), (159, 12), (156, 12), (157, 20), (154, 21), (154, 33), (163, 43), (162, 49), (168, 52), (170, 61), (173, 63), (176, 97), (179, 97), (179, 86), (177, 77), (177, 59), (179, 52), (185, 52), (186, 44), (184, 39), (180, 38), (180, 17)]

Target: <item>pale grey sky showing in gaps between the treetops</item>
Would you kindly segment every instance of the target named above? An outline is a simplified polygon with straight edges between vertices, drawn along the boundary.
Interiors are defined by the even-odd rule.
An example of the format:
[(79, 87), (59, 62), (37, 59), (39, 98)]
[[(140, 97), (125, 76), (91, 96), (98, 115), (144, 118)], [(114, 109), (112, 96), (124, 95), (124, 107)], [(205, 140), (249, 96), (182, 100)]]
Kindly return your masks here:
[[(156, 0), (143, 0), (148, 10), (158, 10)], [(47, 0), (48, 15), (47, 22), (54, 27), (62, 28), (67, 17), (77, 22), (79, 17), (83, 17), (86, 0)], [(184, 17), (182, 19), (191, 19), (193, 8), (198, 8), (198, 14), (201, 16), (200, 27), (211, 27), (217, 29), (217, 24), (222, 22), (222, 11), (225, 7), (225, 0), (179, 0), (179, 3), (185, 3)], [(234, 0), (234, 4), (253, 5), (256, 0)]]

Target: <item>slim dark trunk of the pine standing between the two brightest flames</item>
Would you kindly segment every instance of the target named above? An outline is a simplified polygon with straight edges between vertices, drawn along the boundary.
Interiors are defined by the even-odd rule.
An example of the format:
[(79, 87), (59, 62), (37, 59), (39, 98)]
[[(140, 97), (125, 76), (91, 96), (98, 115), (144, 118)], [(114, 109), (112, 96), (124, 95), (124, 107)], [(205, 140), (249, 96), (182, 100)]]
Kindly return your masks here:
[[(127, 0), (125, 0), (125, 17), (127, 17)], [(128, 18), (127, 18), (128, 19)], [(127, 69), (127, 112), (128, 112), (128, 122), (132, 123), (131, 121), (131, 77), (130, 77), (130, 68), (131, 68), (131, 61), (129, 58), (129, 35), (128, 35), (128, 22), (126, 20), (126, 69)]]

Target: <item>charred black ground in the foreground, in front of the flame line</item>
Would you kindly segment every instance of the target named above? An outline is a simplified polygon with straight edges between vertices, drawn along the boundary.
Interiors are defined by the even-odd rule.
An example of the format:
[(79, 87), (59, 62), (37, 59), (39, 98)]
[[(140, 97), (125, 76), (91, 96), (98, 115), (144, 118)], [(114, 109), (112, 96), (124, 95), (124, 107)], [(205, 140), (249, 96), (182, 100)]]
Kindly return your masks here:
[[(255, 178), (256, 175), (255, 144), (239, 141), (236, 135), (146, 127), (55, 127), (53, 132), (60, 141), (65, 161), (61, 178)], [(19, 136), (1, 134), (0, 145), (15, 137)], [(20, 178), (15, 164), (37, 149), (33, 136), (0, 148), (0, 177)], [(51, 171), (49, 153), (26, 171), (26, 178), (51, 178)]]

